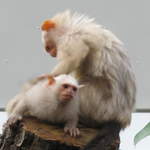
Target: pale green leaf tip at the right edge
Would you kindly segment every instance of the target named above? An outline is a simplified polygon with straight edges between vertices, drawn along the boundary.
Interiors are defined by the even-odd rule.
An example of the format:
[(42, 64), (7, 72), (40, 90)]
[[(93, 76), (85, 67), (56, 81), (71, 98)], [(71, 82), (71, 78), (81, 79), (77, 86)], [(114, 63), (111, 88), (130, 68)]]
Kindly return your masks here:
[(136, 136), (134, 137), (134, 144), (136, 145), (139, 141), (141, 141), (143, 138), (149, 135), (150, 135), (150, 122), (136, 134)]

